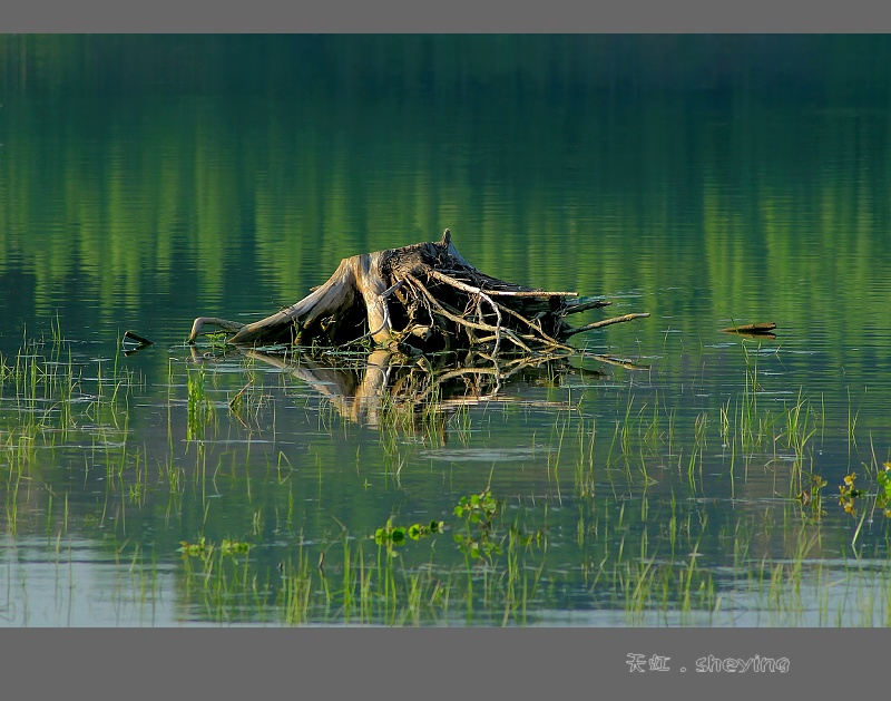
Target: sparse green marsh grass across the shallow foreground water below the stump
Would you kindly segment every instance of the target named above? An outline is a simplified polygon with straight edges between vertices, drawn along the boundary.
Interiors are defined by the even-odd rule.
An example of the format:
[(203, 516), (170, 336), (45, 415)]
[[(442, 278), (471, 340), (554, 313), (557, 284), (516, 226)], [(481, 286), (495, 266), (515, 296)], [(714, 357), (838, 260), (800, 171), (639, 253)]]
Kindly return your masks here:
[(823, 402), (764, 387), (779, 349), (740, 341), (740, 390), (701, 411), (605, 364), (467, 401), (414, 401), (393, 372), (359, 415), (331, 390), (358, 361), (323, 393), (300, 363), (184, 344), (153, 392), (78, 350), (53, 337), (0, 362), (9, 622), (84, 622), (78, 548), (104, 553), (126, 623), (889, 622), (887, 452), (860, 448), (852, 410), (828, 468)]

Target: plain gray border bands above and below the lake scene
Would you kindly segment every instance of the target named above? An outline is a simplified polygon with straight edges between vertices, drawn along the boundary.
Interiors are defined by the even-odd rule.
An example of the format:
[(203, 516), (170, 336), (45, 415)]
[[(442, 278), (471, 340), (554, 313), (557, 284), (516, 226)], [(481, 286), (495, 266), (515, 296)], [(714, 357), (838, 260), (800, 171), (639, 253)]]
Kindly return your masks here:
[[(9, 10), (8, 10), (9, 12)], [(6, 32), (877, 32), (878, 2), (18, 3)], [(882, 688), (887, 630), (300, 629), (4, 630), (7, 693), (204, 699), (596, 698), (611, 692), (817, 698)], [(647, 660), (633, 671), (629, 654)], [(652, 655), (668, 671), (648, 669)], [(787, 658), (785, 673), (696, 673), (696, 660)], [(681, 668), (686, 671), (682, 672)], [(799, 694), (796, 693), (796, 698)]]

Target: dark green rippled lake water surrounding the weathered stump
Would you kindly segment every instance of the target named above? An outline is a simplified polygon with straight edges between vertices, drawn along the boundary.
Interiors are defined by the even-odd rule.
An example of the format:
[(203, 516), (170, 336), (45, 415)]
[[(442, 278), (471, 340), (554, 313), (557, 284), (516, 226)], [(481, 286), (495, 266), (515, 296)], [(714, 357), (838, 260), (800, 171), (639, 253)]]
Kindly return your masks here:
[[(0, 62), (4, 624), (891, 620), (888, 38), (18, 36)], [(574, 340), (638, 369), (412, 427), (353, 420), (362, 367), (184, 343), (446, 227), (490, 274), (650, 312)], [(453, 509), (487, 485), (473, 558)], [(391, 517), (449, 530), (391, 557)]]

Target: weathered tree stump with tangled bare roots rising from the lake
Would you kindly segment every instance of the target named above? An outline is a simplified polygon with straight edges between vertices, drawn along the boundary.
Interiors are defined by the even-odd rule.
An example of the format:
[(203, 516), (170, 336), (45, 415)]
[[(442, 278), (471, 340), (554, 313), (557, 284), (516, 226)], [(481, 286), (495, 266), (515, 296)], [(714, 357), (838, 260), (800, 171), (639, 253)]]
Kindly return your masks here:
[(243, 324), (199, 317), (189, 343), (208, 333), (229, 334), (234, 345), (296, 344), (310, 348), (362, 344), (407, 352), (502, 349), (536, 354), (566, 345), (569, 337), (649, 317), (634, 313), (572, 328), (566, 318), (607, 306), (600, 298), (547, 292), (487, 275), (456, 250), (447, 228), (438, 243), (344, 259), (306, 298)]

